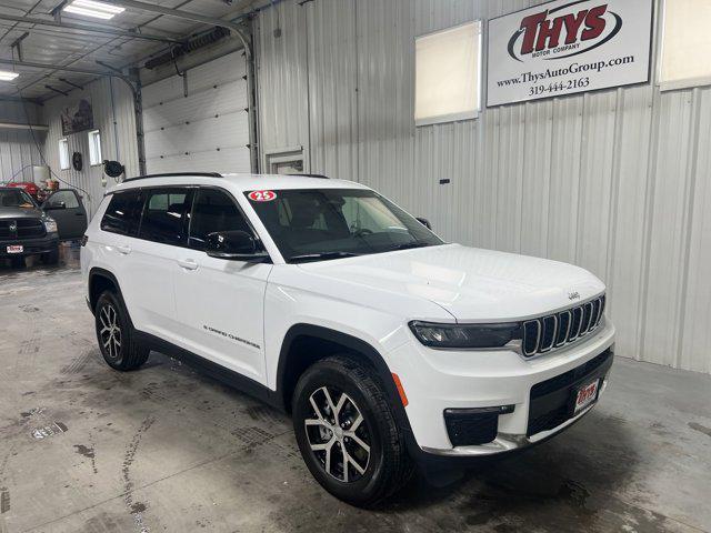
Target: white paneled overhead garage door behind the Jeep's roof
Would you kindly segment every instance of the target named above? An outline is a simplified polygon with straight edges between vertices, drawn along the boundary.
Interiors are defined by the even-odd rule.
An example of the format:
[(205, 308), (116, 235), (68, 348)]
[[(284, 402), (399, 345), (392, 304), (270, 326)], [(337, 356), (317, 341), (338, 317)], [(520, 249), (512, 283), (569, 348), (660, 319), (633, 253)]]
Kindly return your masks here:
[(143, 88), (146, 168), (162, 172), (249, 172), (242, 52)]

